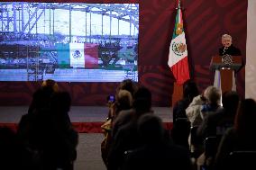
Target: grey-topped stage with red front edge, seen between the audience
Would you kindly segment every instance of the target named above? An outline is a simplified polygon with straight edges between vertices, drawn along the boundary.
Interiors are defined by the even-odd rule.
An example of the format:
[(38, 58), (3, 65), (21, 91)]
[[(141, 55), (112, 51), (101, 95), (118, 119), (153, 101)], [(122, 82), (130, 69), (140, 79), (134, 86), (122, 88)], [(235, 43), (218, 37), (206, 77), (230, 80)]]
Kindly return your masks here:
[[(172, 109), (170, 107), (153, 107), (156, 115), (164, 122), (166, 129), (172, 127)], [(17, 129), (17, 123), (28, 106), (0, 106), (0, 126)], [(106, 106), (72, 106), (69, 112), (74, 128), (80, 133), (101, 133), (100, 126), (105, 122), (108, 108)]]

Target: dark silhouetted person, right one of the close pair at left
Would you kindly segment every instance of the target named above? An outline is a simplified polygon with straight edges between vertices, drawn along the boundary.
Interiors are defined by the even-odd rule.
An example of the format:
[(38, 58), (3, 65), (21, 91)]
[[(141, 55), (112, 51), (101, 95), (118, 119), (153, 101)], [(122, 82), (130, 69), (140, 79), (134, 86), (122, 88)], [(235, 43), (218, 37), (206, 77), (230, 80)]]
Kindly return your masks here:
[(73, 169), (77, 158), (78, 132), (69, 119), (71, 98), (68, 92), (58, 92), (50, 100), (52, 130), (44, 144), (44, 169)]

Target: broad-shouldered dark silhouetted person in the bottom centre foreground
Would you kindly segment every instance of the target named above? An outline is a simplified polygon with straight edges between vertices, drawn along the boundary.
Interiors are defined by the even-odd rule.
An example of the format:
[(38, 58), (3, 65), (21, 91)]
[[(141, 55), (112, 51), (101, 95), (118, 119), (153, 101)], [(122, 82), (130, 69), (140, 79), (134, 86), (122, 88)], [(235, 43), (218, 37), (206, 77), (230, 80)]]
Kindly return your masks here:
[(165, 140), (160, 118), (144, 114), (138, 121), (142, 147), (125, 152), (123, 170), (192, 169), (188, 150)]

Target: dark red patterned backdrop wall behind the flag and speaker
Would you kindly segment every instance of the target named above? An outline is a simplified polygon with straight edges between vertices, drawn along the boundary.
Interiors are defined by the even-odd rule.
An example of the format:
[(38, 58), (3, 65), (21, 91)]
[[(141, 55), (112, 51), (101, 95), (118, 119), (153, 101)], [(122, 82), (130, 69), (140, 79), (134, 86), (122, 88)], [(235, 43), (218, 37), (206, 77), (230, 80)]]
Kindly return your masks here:
[[(10, 0), (9, 0), (10, 1)], [(40, 2), (40, 1), (39, 1)], [(154, 106), (169, 106), (174, 78), (167, 65), (169, 42), (176, 15), (176, 0), (72, 0), (41, 2), (139, 3), (139, 84), (148, 87)], [(218, 54), (221, 35), (233, 36), (233, 44), (242, 50), (245, 61), (247, 0), (181, 0), (192, 78), (202, 91), (213, 85), (211, 57)], [(59, 83), (74, 105), (105, 105), (119, 83)], [(0, 82), (0, 105), (23, 105), (41, 82)], [(237, 87), (244, 96), (244, 68), (237, 75)]]

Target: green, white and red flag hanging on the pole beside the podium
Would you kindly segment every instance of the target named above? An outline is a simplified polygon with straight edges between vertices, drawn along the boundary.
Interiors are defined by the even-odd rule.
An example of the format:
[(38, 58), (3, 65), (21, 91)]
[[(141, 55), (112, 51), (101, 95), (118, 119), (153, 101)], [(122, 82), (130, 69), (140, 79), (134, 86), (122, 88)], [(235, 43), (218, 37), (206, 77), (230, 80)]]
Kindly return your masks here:
[(187, 44), (183, 29), (182, 12), (179, 6), (172, 40), (169, 46), (168, 65), (178, 85), (183, 85), (184, 82), (190, 79), (187, 61)]

